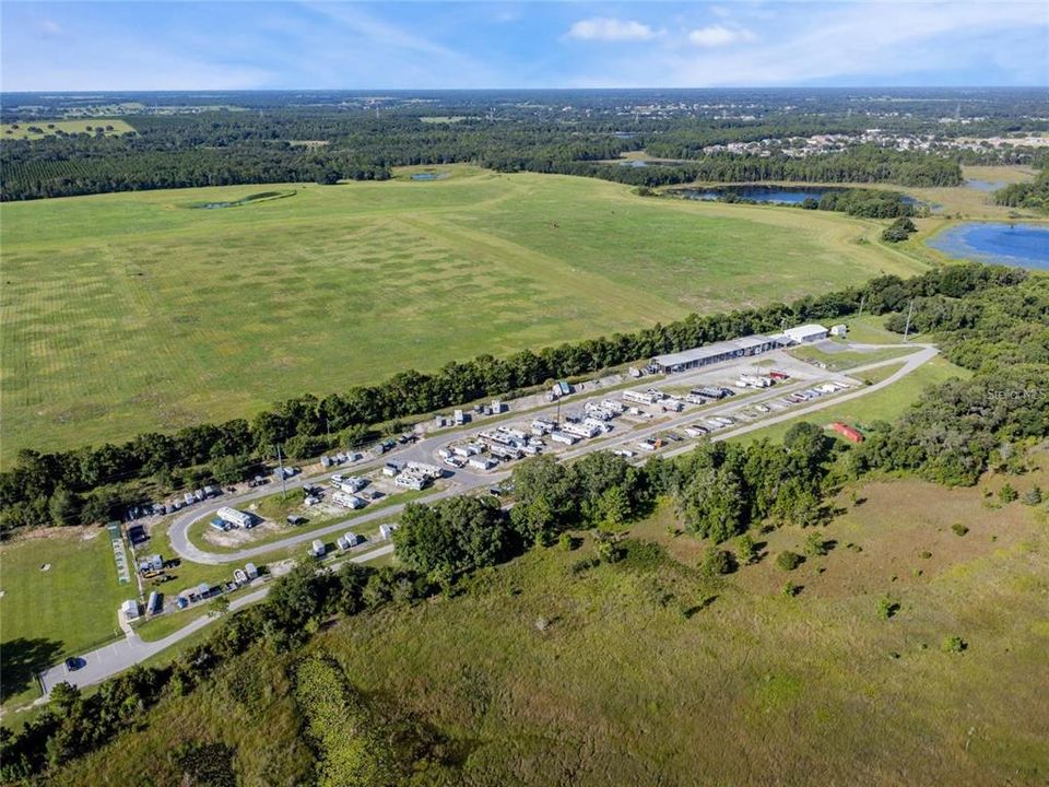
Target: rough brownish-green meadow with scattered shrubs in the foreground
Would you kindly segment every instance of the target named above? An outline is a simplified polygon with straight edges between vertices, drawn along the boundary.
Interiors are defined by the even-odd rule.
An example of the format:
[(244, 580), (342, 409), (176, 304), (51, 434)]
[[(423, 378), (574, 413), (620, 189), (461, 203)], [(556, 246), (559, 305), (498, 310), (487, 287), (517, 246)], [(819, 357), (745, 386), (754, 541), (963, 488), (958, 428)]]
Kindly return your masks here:
[[(1041, 784), (1046, 514), (988, 506), (979, 488), (856, 491), (861, 504), (844, 493), (822, 531), (836, 547), (790, 574), (773, 559), (808, 530), (765, 535), (757, 565), (710, 579), (706, 544), (672, 535), (663, 508), (629, 529), (618, 563), (576, 568), (588, 540), (533, 550), (455, 598), (356, 616), (313, 647), (445, 742), (456, 767), (419, 784)], [(884, 597), (899, 604), (889, 620)], [(948, 636), (967, 649), (945, 653)], [(54, 784), (177, 782), (144, 753), (184, 740), (235, 747), (245, 785), (308, 778), (294, 659), (246, 655)]]

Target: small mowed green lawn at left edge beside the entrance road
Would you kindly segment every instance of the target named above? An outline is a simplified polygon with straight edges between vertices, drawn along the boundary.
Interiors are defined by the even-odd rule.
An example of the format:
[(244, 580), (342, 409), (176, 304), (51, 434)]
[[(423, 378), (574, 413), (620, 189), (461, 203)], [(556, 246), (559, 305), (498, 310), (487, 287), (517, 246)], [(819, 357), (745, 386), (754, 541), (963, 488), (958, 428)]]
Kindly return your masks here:
[(109, 537), (99, 528), (56, 529), (4, 544), (0, 589), (4, 705), (36, 696), (39, 669), (121, 636), (117, 608), (138, 596), (133, 585), (117, 580)]

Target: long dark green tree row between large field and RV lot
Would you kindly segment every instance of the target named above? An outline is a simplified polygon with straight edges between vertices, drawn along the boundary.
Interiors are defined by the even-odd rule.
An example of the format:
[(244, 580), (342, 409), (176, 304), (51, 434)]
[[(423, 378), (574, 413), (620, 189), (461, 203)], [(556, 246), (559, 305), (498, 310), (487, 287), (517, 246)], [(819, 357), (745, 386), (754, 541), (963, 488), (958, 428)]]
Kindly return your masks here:
[[(990, 285), (1023, 281), (1013, 268), (952, 266), (901, 280), (886, 275), (860, 287), (794, 303), (771, 304), (729, 314), (696, 314), (633, 333), (565, 343), (506, 359), (481, 355), (451, 362), (434, 374), (406, 371), (386, 383), (360, 386), (322, 399), (306, 395), (256, 415), (221, 424), (200, 424), (175, 434), (141, 434), (120, 445), (106, 444), (42, 454), (22, 449), (13, 468), (0, 473), (0, 528), (104, 520), (127, 505), (123, 482), (146, 479), (170, 486), (182, 473), (195, 481), (226, 483), (273, 456), (283, 445), (293, 458), (360, 443), (375, 424), (482, 397), (507, 396), (554, 378), (588, 375), (632, 361), (676, 352), (754, 332), (774, 332), (785, 322), (836, 319), (854, 314), (898, 310), (915, 296), (957, 297)], [(331, 435), (329, 439), (328, 435)], [(186, 478), (186, 475), (182, 475)]]

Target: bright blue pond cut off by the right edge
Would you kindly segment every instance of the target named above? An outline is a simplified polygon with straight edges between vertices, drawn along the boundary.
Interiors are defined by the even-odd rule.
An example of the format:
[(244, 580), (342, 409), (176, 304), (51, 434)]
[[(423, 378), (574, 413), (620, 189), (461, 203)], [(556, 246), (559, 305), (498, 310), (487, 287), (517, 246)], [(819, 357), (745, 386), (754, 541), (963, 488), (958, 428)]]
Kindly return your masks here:
[(927, 243), (950, 257), (1049, 270), (1049, 226), (968, 222)]

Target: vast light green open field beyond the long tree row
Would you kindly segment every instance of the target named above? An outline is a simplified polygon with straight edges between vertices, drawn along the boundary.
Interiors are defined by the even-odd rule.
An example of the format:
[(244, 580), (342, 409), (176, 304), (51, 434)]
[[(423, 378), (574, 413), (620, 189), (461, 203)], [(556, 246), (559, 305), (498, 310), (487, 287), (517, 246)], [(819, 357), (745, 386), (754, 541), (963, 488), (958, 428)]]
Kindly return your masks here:
[(4, 204), (0, 459), (921, 268), (844, 215), (441, 169)]

